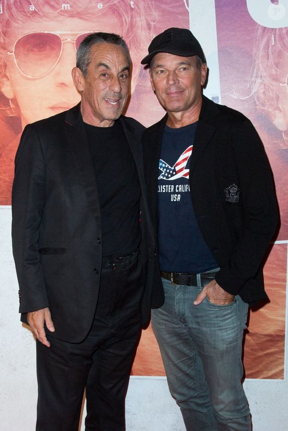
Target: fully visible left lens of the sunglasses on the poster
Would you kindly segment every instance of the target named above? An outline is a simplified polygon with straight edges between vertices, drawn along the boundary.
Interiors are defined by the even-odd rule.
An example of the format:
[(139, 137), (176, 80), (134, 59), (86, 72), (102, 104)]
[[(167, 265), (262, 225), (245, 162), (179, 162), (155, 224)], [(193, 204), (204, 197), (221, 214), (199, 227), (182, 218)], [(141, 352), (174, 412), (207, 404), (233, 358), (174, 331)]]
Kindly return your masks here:
[(57, 34), (27, 34), (15, 45), (15, 61), (23, 73), (36, 78), (53, 68), (61, 54), (61, 48), (62, 41)]

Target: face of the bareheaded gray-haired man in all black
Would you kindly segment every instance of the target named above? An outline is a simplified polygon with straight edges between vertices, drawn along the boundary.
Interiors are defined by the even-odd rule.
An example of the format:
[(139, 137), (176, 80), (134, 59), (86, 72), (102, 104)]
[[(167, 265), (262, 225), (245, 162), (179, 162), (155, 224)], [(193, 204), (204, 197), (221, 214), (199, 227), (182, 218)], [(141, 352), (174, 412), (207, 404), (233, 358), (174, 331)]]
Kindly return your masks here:
[(90, 49), (86, 76), (72, 71), (75, 87), (81, 94), (81, 113), (85, 123), (112, 126), (120, 117), (128, 97), (130, 62), (120, 45), (96, 43)]

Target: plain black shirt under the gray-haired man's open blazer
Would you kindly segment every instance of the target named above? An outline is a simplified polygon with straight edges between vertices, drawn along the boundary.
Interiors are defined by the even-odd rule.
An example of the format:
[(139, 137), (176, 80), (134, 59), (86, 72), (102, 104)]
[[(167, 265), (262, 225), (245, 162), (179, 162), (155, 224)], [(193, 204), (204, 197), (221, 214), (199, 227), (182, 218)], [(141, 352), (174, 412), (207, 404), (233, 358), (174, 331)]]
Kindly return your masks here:
[(125, 256), (137, 250), (140, 183), (122, 125), (95, 127), (85, 123), (95, 170), (102, 220), (103, 257)]

